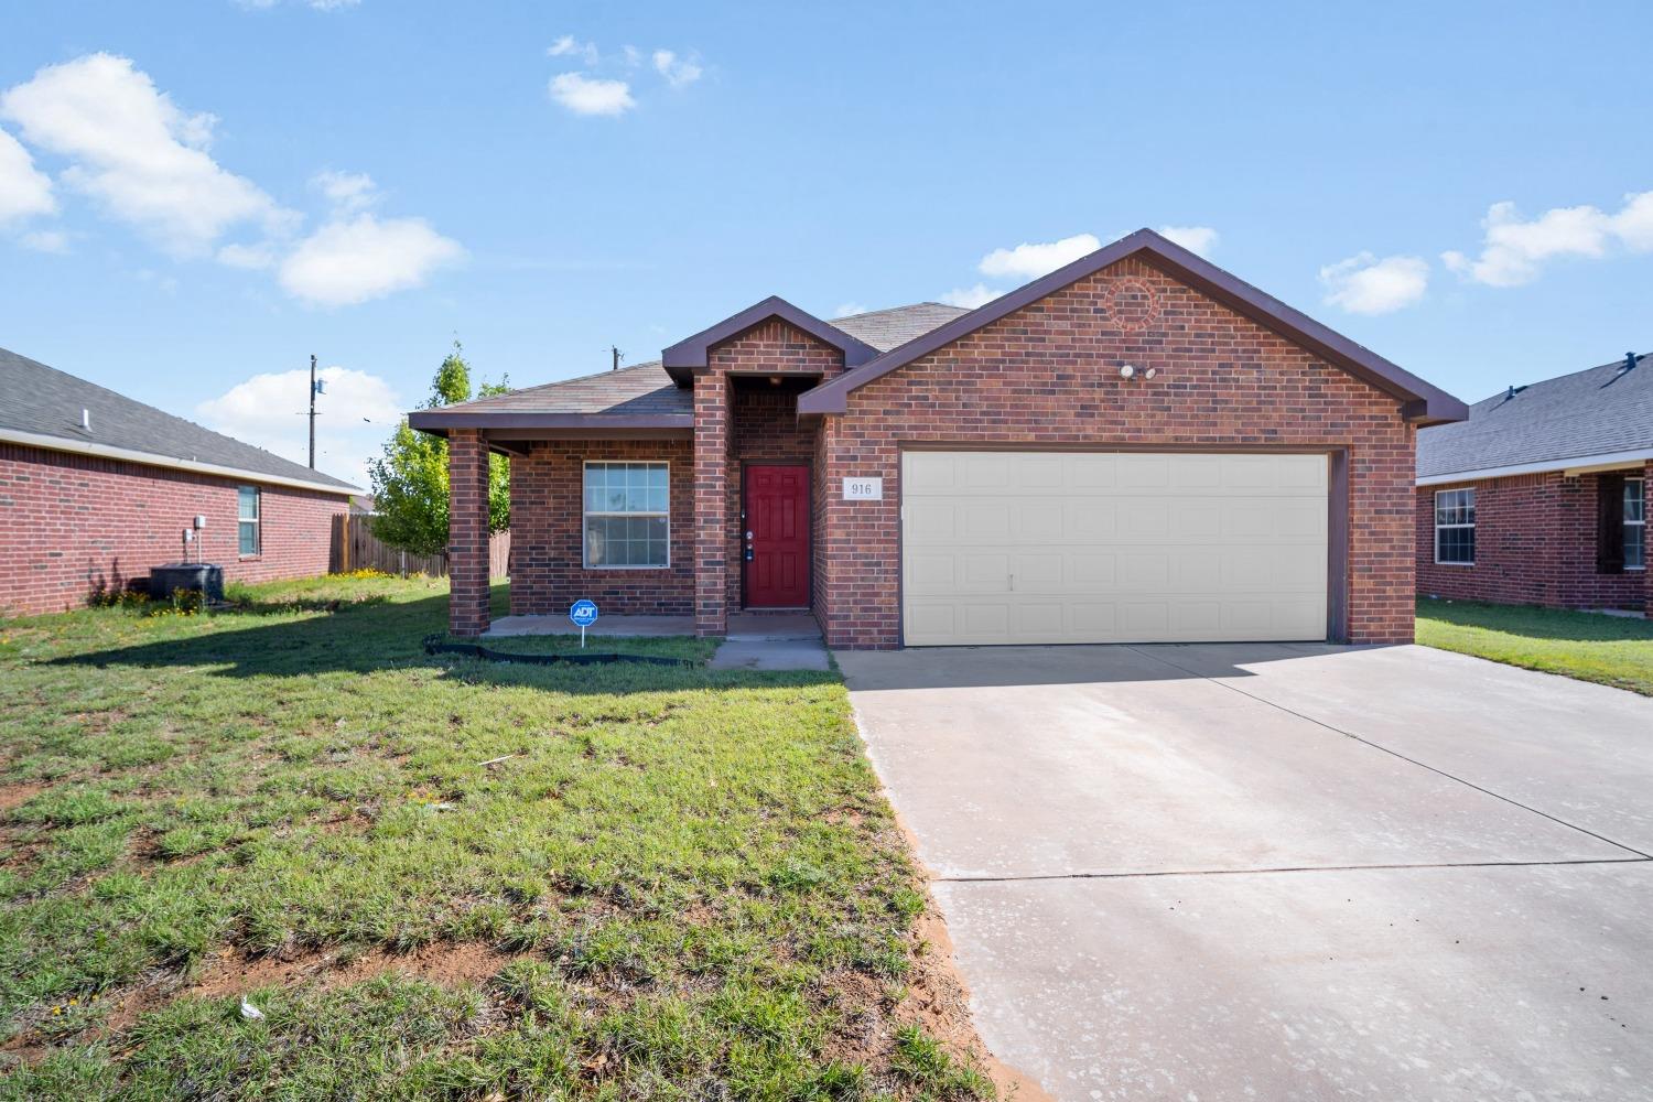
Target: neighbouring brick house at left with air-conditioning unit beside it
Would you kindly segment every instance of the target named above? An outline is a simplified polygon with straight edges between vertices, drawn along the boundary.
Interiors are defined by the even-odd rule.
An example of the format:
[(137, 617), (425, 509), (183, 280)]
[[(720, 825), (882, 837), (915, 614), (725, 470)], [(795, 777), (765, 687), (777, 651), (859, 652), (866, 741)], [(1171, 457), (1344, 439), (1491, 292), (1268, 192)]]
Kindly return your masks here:
[[(0, 349), (0, 610), (61, 611), (169, 562), (326, 573), (349, 482)], [(200, 527), (197, 527), (197, 524)], [(185, 544), (183, 534), (193, 539)]]

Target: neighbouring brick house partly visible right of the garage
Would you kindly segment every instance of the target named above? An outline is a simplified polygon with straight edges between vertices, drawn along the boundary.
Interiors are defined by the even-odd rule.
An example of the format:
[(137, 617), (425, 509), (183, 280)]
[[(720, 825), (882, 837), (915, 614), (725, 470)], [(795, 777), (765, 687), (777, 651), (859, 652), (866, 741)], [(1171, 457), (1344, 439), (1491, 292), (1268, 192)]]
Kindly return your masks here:
[(1418, 593), (1650, 608), (1653, 357), (1509, 387), (1418, 433)]

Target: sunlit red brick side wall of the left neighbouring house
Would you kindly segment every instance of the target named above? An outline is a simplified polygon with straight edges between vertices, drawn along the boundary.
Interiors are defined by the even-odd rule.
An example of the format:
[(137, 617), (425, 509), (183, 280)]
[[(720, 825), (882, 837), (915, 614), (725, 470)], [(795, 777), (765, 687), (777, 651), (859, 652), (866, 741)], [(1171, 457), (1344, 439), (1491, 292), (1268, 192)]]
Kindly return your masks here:
[(260, 486), (260, 553), (241, 558), (236, 487), (248, 482), (40, 448), (0, 444), (0, 610), (63, 611), (99, 583), (121, 588), (183, 558), (183, 529), (207, 527), (188, 557), (230, 582), (327, 573), (332, 517), (347, 499)]

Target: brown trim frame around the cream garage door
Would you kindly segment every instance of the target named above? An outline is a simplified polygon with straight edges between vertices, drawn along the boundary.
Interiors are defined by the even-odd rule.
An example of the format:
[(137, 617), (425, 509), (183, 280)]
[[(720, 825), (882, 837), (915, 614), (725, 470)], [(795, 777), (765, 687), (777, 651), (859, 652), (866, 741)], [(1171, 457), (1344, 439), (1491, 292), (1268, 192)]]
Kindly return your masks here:
[(1025, 451), (1025, 453), (1175, 453), (1175, 454), (1273, 454), (1326, 456), (1326, 639), (1349, 641), (1349, 449), (1341, 444), (1109, 444), (1109, 443), (1036, 443), (979, 439), (904, 439), (896, 441), (896, 616), (901, 646), (907, 646), (906, 600), (906, 453), (909, 451)]

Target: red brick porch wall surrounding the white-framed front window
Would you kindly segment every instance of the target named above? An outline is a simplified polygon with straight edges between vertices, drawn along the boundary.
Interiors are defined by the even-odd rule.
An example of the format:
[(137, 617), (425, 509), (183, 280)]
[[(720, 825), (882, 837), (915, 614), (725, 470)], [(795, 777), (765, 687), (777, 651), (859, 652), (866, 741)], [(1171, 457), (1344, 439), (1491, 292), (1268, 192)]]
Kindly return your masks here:
[[(587, 570), (585, 461), (671, 464), (671, 567)], [(511, 458), (511, 611), (567, 615), (580, 598), (603, 615), (688, 616), (694, 610), (694, 453), (688, 439), (537, 441)]]

